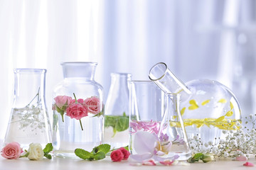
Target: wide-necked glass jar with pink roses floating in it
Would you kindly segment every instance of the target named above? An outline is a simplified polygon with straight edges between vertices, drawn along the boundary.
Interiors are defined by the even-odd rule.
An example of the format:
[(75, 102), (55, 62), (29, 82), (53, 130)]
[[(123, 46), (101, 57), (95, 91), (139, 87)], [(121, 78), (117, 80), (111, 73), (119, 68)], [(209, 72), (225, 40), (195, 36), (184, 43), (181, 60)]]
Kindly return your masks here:
[(92, 150), (103, 135), (103, 88), (95, 81), (95, 62), (63, 62), (63, 81), (53, 91), (53, 153), (75, 157)]

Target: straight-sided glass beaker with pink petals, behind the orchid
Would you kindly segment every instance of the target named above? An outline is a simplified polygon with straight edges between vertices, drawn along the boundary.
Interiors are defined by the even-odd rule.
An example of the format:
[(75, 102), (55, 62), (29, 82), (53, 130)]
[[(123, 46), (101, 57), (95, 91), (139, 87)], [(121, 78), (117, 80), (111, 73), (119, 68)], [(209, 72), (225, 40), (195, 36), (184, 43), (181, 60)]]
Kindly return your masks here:
[(134, 135), (149, 132), (158, 135), (164, 115), (164, 92), (152, 81), (129, 81), (129, 150), (134, 149)]

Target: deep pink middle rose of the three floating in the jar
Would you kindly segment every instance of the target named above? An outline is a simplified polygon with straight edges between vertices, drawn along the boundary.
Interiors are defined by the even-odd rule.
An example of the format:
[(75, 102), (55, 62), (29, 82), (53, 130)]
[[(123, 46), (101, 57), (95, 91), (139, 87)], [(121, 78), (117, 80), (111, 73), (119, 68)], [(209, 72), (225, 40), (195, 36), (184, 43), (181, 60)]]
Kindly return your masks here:
[(70, 106), (68, 106), (67, 115), (70, 118), (75, 118), (77, 120), (80, 120), (82, 117), (85, 117), (88, 115), (88, 111), (80, 103), (73, 103)]

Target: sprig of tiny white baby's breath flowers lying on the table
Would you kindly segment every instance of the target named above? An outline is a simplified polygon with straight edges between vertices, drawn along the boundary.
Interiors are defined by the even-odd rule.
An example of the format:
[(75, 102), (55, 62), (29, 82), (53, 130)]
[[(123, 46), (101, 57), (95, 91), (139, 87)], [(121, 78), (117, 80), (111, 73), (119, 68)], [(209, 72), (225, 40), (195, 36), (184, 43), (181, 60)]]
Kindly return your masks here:
[[(256, 115), (256, 114), (255, 114)], [(236, 123), (229, 130), (222, 130), (225, 139), (215, 137), (214, 141), (203, 142), (198, 134), (190, 140), (193, 154), (203, 153), (212, 154), (219, 158), (237, 158), (245, 156), (249, 158), (250, 154), (256, 157), (256, 130), (255, 115), (246, 118), (245, 124), (252, 124), (252, 128), (242, 127), (240, 123)]]

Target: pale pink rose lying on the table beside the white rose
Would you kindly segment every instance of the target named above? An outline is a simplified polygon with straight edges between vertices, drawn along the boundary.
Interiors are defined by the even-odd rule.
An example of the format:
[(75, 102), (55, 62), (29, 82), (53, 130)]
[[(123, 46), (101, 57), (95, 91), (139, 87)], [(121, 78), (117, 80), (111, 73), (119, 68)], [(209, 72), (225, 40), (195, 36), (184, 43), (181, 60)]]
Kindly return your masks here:
[(1, 156), (7, 159), (18, 159), (21, 151), (21, 145), (18, 142), (11, 142), (1, 150)]

